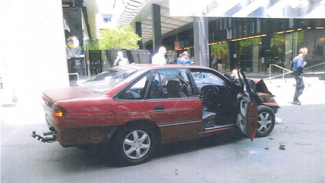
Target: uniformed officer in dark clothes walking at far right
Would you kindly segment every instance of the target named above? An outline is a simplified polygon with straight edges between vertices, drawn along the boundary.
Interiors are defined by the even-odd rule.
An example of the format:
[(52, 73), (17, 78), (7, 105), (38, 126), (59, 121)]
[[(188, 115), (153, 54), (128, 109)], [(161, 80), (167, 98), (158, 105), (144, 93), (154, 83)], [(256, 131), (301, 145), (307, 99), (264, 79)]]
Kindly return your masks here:
[(304, 57), (308, 54), (308, 49), (301, 47), (299, 49), (299, 54), (292, 59), (292, 68), (294, 72), (295, 79), (295, 91), (293, 96), (292, 104), (300, 105), (299, 96), (302, 94), (304, 89), (303, 78), (303, 67), (307, 64)]

